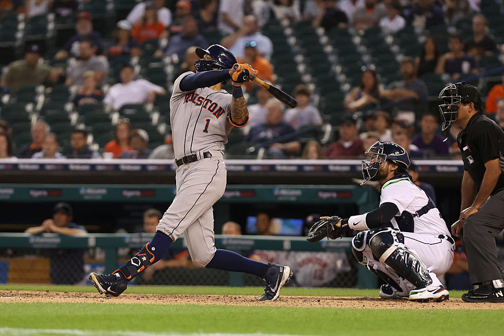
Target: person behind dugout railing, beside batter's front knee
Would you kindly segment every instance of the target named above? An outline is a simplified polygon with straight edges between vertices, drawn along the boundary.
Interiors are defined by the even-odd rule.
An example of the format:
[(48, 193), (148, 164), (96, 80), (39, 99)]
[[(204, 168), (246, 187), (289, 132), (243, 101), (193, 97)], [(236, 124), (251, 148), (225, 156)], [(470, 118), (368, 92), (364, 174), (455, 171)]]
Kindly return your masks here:
[[(159, 224), (161, 217), (163, 217), (163, 215), (158, 209), (151, 208), (145, 211), (145, 213), (143, 213), (143, 232), (155, 234), (156, 226)], [(161, 260), (152, 264), (151, 267), (148, 267), (142, 272), (142, 278), (146, 281), (150, 281), (157, 271), (164, 270), (165, 268), (187, 267), (188, 264), (189, 253), (186, 250), (169, 249)]]

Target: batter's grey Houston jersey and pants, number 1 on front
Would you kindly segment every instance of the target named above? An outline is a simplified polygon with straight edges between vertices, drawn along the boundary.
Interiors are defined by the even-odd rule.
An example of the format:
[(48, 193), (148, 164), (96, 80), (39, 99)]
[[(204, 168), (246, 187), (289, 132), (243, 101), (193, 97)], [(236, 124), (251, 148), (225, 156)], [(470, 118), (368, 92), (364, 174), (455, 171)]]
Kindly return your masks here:
[[(212, 206), (226, 188), (224, 145), (236, 125), (228, 118), (232, 95), (226, 91), (209, 87), (181, 91), (180, 82), (189, 74), (194, 73), (186, 72), (175, 80), (170, 99), (173, 149), (177, 159), (196, 154), (199, 160), (177, 168), (177, 194), (156, 230), (173, 241), (184, 234), (192, 261), (205, 267), (216, 251)], [(211, 157), (205, 158), (206, 152)]]

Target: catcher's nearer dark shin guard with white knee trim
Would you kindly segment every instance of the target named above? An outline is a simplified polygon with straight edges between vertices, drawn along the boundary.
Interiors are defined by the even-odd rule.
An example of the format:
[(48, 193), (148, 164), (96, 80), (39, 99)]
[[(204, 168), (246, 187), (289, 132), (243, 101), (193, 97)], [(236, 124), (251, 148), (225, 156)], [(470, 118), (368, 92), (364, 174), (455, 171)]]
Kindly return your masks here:
[[(400, 236), (399, 236), (400, 235)], [(398, 239), (404, 239), (397, 234)], [(376, 233), (369, 241), (373, 254), (404, 279), (417, 288), (432, 284), (427, 268), (418, 256), (395, 244), (391, 231)]]

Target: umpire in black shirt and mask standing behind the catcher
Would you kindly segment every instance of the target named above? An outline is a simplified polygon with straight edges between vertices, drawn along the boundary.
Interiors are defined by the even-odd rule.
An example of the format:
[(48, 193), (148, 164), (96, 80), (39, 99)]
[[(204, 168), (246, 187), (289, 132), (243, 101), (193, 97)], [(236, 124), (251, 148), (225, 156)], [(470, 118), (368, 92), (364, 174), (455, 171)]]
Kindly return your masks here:
[(439, 94), (442, 130), (452, 122), (462, 128), (457, 143), (462, 152), (462, 204), (452, 233), (460, 236), (469, 262), (471, 284), (465, 302), (504, 303), (504, 271), (497, 259), (495, 237), (504, 229), (504, 131), (483, 114), (481, 93), (473, 85), (449, 84)]

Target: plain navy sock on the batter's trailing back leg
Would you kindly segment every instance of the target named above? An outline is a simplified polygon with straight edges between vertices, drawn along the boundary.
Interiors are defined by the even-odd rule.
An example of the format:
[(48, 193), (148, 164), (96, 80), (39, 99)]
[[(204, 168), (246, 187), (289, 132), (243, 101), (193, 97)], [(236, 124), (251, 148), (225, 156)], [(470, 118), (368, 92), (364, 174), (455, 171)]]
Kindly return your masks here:
[(217, 249), (207, 268), (217, 268), (224, 271), (244, 272), (264, 277), (269, 265), (267, 263), (245, 258), (236, 252)]

